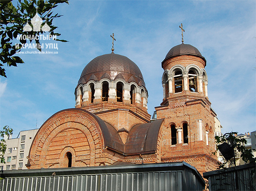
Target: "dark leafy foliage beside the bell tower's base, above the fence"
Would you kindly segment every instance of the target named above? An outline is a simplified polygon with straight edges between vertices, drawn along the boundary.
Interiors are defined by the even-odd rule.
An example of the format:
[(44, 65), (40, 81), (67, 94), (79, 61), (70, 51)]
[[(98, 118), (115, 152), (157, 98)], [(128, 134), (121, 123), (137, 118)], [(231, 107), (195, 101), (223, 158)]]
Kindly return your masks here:
[[(242, 137), (235, 136), (238, 132), (226, 133), (223, 136), (215, 136), (216, 144), (220, 145), (221, 143), (228, 143), (234, 148), (235, 152), (240, 153), (240, 157), (244, 162), (256, 162), (256, 159), (253, 156), (252, 149), (247, 149), (244, 145), (247, 143), (247, 140)], [(218, 151), (218, 146), (217, 146)], [(216, 151), (215, 151), (216, 153)], [(214, 154), (215, 154), (214, 153)], [(225, 168), (227, 166), (231, 167), (234, 165), (234, 160), (223, 160), (219, 168)]]

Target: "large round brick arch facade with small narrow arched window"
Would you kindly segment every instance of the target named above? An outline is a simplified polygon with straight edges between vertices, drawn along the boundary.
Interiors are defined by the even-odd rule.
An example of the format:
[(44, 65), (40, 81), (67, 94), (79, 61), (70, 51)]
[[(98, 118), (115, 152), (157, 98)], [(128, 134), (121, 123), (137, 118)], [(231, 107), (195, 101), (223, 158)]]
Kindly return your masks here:
[[(61, 151), (64, 147), (55, 147), (51, 145), (56, 139), (61, 139), (59, 135), (67, 134), (66, 137), (62, 136), (65, 147), (69, 146), (75, 150), (75, 163), (76, 166), (87, 166), (95, 164), (95, 155), (100, 154), (105, 147), (104, 138), (102, 136), (102, 127), (100, 121), (93, 114), (82, 109), (67, 109), (59, 111), (50, 117), (39, 129), (36, 134), (32, 146), (29, 151), (28, 168), (59, 168), (62, 167), (59, 159)], [(76, 131), (72, 135), (72, 131)], [(61, 134), (60, 134), (61, 133)], [(80, 143), (67, 143), (75, 139), (68, 138), (70, 136), (80, 134), (83, 147), (89, 146), (87, 152), (90, 157), (84, 158), (82, 154), (77, 154), (75, 148), (79, 148)], [(84, 145), (87, 144), (87, 145)], [(51, 153), (55, 151), (54, 153)], [(82, 152), (86, 153), (86, 149)], [(55, 156), (54, 156), (55, 155)], [(86, 155), (86, 154), (85, 154)], [(53, 158), (51, 158), (53, 157)]]

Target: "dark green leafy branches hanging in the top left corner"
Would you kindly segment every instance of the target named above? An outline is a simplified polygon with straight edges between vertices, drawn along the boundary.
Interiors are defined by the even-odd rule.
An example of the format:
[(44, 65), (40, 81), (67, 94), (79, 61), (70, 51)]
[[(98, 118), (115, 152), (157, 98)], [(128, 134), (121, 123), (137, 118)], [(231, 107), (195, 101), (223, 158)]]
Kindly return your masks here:
[[(17, 66), (17, 63), (24, 63), (23, 60), (14, 56), (20, 51), (22, 45), (27, 43), (26, 39), (21, 38), (19, 40), (19, 46), (15, 46), (14, 40), (19, 35), (39, 35), (43, 34), (43, 31), (23, 31), (23, 27), (26, 25), (27, 20), (31, 20), (36, 13), (40, 15), (43, 22), (47, 21), (47, 25), (50, 27), (49, 34), (60, 36), (56, 33), (57, 26), (53, 26), (52, 22), (55, 18), (61, 17), (61, 15), (53, 14), (53, 8), (57, 7), (59, 3), (68, 3), (68, 0), (1, 0), (0, 1), (0, 75), (6, 77), (6, 66)], [(59, 40), (67, 42), (66, 40)], [(32, 40), (29, 40), (30, 43)], [(34, 41), (34, 40), (33, 40)], [(36, 44), (40, 44), (39, 40), (35, 40)], [(40, 46), (37, 46), (41, 51)]]

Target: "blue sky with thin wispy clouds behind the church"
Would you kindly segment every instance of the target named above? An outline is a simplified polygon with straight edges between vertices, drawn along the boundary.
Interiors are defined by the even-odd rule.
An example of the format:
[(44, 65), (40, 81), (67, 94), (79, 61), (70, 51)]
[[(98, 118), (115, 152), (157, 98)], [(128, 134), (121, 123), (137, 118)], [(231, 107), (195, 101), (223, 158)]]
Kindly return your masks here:
[[(115, 53), (139, 66), (148, 89), (148, 113), (163, 99), (161, 62), (181, 43), (207, 60), (208, 95), (222, 132), (256, 130), (256, 1), (86, 1), (55, 10), (58, 54), (19, 54), (25, 64), (0, 77), (0, 127), (39, 128), (52, 114), (75, 105), (74, 91), (93, 58)], [(30, 51), (30, 50), (25, 50)], [(56, 51), (56, 50), (54, 50)]]

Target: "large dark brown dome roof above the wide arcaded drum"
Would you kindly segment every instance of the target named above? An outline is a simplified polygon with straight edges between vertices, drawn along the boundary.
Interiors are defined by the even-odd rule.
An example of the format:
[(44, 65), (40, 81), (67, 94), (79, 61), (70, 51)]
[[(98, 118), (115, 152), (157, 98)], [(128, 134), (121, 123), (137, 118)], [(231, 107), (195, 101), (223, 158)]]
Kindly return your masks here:
[(115, 80), (121, 78), (127, 82), (134, 81), (145, 87), (140, 68), (128, 57), (114, 54), (104, 54), (94, 58), (82, 71), (80, 83), (87, 83), (89, 80), (98, 81), (102, 78)]

